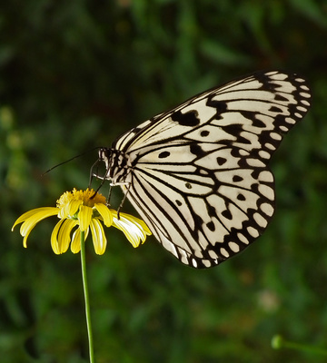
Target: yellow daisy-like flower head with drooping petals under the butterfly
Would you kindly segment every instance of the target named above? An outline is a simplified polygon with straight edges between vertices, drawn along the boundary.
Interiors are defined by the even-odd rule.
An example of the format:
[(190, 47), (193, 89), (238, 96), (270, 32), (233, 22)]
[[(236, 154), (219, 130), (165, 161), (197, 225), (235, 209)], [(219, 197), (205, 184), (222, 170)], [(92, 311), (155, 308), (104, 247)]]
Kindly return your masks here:
[(44, 207), (26, 211), (15, 221), (12, 231), (17, 224), (23, 222), (20, 234), (24, 237), (23, 244), (26, 248), (27, 238), (35, 224), (54, 215), (60, 219), (51, 235), (51, 246), (56, 254), (68, 250), (69, 244), (71, 244), (72, 252), (78, 253), (81, 250), (81, 231), (85, 233), (86, 240), (91, 230), (95, 253), (102, 255), (107, 240), (101, 221), (105, 227), (114, 226), (123, 231), (134, 248), (138, 247), (141, 242), (144, 243), (146, 236), (151, 234), (144, 221), (132, 215), (119, 213), (118, 219), (117, 211), (109, 209), (104, 196), (99, 193), (94, 195), (93, 189), (66, 191), (57, 201), (55, 208)]

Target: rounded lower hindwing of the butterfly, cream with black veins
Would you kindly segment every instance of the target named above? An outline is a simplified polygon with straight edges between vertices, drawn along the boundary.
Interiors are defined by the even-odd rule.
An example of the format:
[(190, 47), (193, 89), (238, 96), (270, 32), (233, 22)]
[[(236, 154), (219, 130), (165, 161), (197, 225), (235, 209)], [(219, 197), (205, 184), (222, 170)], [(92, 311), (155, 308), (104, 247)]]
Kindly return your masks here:
[(223, 147), (199, 157), (192, 149), (168, 148), (178, 160), (173, 165), (144, 155), (127, 196), (167, 250), (193, 267), (209, 267), (243, 250), (267, 226), (273, 177), (263, 162), (249, 165), (248, 152)]

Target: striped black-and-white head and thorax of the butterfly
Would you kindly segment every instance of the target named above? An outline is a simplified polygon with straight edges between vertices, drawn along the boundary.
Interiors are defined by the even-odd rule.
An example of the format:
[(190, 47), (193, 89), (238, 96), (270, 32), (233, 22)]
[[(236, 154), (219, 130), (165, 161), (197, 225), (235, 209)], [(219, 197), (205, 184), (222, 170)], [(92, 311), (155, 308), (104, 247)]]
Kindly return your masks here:
[(100, 148), (99, 160), (105, 164), (104, 179), (110, 179), (112, 184), (126, 182), (130, 165), (124, 152), (114, 148)]

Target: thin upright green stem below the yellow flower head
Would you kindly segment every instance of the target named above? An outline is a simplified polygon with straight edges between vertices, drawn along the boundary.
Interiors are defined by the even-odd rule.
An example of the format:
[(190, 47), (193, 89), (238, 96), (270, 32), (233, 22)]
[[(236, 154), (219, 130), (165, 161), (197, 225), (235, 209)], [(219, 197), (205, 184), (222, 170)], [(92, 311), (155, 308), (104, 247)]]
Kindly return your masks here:
[(81, 265), (82, 265), (82, 277), (83, 277), (83, 288), (84, 288), (84, 300), (85, 300), (85, 316), (87, 325), (87, 335), (89, 341), (89, 353), (90, 353), (90, 363), (94, 363), (94, 341), (92, 334), (92, 324), (91, 324), (91, 312), (90, 312), (90, 299), (87, 286), (87, 276), (86, 276), (86, 259), (85, 259), (85, 232), (81, 231)]

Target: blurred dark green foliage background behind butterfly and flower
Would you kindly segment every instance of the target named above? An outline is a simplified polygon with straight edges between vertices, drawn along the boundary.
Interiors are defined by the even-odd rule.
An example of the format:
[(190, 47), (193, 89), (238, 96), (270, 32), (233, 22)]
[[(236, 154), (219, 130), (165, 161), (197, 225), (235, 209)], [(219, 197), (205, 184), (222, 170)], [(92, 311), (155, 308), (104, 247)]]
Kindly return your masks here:
[[(303, 74), (312, 110), (272, 159), (277, 211), (258, 241), (193, 270), (154, 240), (108, 233), (87, 264), (104, 362), (323, 362), (273, 350), (276, 333), (327, 348), (327, 3), (314, 0), (12, 0), (0, 5), (0, 356), (86, 362), (79, 255), (25, 250), (15, 219), (84, 189), (95, 146), (207, 88), (261, 69)], [(115, 191), (114, 204), (121, 192)], [(128, 203), (124, 211), (133, 212)]]

